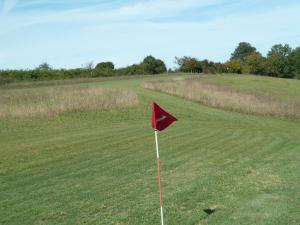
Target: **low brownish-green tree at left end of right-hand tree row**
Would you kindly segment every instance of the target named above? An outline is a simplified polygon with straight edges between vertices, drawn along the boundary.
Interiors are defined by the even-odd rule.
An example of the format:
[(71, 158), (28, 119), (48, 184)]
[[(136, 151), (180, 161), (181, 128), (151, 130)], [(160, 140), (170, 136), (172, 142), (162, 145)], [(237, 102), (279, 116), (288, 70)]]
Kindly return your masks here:
[(190, 72), (190, 73), (201, 73), (202, 66), (201, 62), (192, 57), (175, 57), (175, 63), (179, 66), (179, 71), (181, 72)]

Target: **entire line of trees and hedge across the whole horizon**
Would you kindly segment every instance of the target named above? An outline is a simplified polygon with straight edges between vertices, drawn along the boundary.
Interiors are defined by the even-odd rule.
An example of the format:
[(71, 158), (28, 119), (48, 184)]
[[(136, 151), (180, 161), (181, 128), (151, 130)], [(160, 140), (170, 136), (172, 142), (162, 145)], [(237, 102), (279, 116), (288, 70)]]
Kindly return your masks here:
[(161, 74), (165, 72), (186, 73), (245, 73), (283, 78), (300, 79), (300, 47), (292, 49), (289, 45), (274, 45), (263, 56), (250, 43), (240, 42), (228, 61), (213, 62), (194, 57), (175, 57), (176, 69), (169, 69), (161, 59), (147, 56), (138, 64), (115, 68), (113, 62), (87, 63), (82, 68), (53, 69), (42, 63), (31, 70), (0, 70), (0, 83), (31, 80), (57, 80), (85, 77), (105, 77), (124, 75)]

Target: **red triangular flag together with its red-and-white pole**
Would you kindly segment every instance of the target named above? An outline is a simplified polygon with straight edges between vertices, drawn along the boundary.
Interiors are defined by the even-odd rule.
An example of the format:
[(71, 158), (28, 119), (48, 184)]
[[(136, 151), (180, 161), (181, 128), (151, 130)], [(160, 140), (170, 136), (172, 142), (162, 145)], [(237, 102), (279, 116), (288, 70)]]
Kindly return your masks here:
[(162, 131), (170, 126), (177, 119), (160, 108), (155, 102), (152, 102), (152, 128), (154, 129), (155, 145), (156, 145), (156, 158), (157, 158), (157, 181), (159, 189), (159, 202), (160, 202), (160, 217), (161, 225), (164, 225), (163, 214), (163, 196), (162, 196), (162, 184), (160, 176), (160, 158), (158, 149), (158, 131)]

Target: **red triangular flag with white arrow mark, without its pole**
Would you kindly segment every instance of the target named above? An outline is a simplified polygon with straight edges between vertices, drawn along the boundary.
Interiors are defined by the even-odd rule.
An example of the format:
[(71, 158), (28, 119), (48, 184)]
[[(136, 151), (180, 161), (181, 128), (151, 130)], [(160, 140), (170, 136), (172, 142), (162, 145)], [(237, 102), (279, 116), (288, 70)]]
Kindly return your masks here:
[(162, 131), (177, 119), (152, 102), (152, 128)]

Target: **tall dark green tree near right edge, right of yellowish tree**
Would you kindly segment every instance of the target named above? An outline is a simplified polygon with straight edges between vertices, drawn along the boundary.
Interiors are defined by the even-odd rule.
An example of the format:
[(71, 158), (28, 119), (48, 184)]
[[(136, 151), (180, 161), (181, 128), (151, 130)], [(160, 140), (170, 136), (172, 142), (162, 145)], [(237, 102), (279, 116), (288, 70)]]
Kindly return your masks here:
[(293, 77), (290, 63), (291, 47), (288, 44), (274, 45), (267, 55), (268, 74), (276, 77)]

